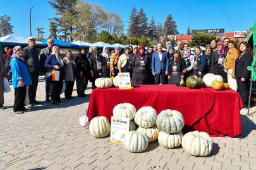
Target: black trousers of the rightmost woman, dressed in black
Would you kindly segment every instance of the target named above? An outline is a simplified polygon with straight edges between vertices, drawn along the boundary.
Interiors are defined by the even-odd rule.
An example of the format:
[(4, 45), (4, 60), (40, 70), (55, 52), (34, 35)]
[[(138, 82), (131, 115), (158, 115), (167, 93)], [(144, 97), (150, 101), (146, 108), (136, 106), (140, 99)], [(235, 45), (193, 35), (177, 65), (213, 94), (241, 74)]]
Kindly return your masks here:
[(236, 77), (237, 82), (237, 91), (241, 96), (244, 106), (248, 106), (248, 91), (249, 91), (249, 84), (250, 79), (245, 79), (245, 81), (241, 81), (241, 77)]

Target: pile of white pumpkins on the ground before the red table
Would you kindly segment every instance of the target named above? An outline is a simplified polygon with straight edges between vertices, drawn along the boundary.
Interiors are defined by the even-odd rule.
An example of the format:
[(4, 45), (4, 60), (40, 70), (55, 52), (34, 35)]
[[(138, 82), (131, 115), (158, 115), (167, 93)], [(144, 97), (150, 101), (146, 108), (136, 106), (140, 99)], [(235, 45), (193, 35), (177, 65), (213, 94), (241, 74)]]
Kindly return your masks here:
[[(150, 142), (158, 139), (166, 148), (178, 147), (192, 156), (207, 156), (212, 150), (212, 139), (206, 132), (189, 132), (183, 136), (185, 125), (183, 115), (176, 110), (164, 110), (157, 115), (151, 106), (142, 107), (138, 111), (129, 103), (114, 107), (114, 116), (130, 118), (130, 132), (126, 133), (123, 143), (130, 152), (142, 152)], [(134, 118), (134, 122), (133, 122)], [(137, 128), (137, 125), (138, 128)], [(156, 124), (156, 125), (155, 125)], [(90, 133), (95, 138), (106, 137), (110, 132), (109, 120), (98, 116), (90, 122)]]

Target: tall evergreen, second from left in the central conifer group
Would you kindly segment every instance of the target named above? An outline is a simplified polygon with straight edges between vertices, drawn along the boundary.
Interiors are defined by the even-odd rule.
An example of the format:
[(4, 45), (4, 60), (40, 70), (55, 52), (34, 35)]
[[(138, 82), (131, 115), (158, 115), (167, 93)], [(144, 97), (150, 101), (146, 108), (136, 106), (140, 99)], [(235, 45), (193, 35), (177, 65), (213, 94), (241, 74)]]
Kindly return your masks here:
[(147, 21), (149, 19), (147, 19), (147, 15), (146, 13), (144, 13), (143, 8), (140, 8), (140, 11), (138, 11), (137, 18), (138, 18), (138, 37), (142, 37), (142, 35), (146, 36), (148, 31)]

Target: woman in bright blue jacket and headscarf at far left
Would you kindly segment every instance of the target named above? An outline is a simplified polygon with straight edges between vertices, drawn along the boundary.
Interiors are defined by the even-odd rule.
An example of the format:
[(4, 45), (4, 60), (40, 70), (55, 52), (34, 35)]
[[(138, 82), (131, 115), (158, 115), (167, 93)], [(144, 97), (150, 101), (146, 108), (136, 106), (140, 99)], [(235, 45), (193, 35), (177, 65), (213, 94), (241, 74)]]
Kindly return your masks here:
[(15, 103), (13, 105), (13, 112), (21, 114), (22, 111), (28, 111), (24, 107), (24, 101), (27, 93), (27, 85), (32, 84), (29, 74), (29, 67), (25, 62), (23, 55), (23, 48), (15, 46), (13, 48), (13, 55), (11, 55), (11, 72), (13, 76), (11, 78), (13, 82), (13, 88), (15, 88)]

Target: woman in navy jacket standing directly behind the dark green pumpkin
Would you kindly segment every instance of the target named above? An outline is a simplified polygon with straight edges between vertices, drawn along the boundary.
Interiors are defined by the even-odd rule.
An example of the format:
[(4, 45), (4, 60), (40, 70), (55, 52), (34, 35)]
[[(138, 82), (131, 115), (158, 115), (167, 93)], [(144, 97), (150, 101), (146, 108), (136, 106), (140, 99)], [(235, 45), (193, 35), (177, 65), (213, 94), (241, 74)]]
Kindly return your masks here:
[(193, 75), (203, 78), (205, 74), (207, 57), (202, 53), (202, 50), (199, 46), (195, 47), (195, 54)]

